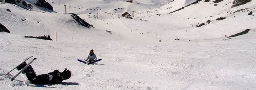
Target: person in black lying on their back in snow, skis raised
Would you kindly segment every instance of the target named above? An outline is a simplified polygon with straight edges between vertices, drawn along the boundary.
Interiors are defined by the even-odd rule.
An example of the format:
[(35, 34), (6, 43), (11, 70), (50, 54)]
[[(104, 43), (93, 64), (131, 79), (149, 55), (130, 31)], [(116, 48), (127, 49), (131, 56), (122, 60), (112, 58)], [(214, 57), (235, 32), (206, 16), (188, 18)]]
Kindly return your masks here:
[[(26, 65), (26, 62), (20, 64), (17, 67), (17, 70), (23, 69)], [(63, 72), (54, 70), (48, 74), (41, 74), (37, 76), (31, 65), (22, 71), (22, 74), (26, 74), (28, 80), (31, 81), (32, 84), (60, 84), (63, 80), (67, 80), (71, 77), (71, 71), (67, 69), (65, 69)]]

